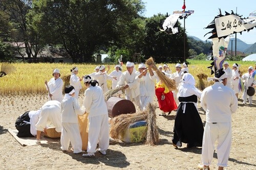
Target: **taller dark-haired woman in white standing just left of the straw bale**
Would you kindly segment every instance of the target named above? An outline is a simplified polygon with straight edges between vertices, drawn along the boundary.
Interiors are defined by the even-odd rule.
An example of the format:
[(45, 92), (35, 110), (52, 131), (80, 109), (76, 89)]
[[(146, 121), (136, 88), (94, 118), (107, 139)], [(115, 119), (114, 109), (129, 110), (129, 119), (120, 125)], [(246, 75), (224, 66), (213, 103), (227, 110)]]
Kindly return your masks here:
[(83, 157), (94, 157), (97, 143), (99, 142), (99, 152), (106, 155), (109, 148), (109, 114), (104, 101), (103, 91), (97, 86), (98, 82), (92, 80), (90, 76), (83, 78), (87, 89), (84, 91), (83, 105), (89, 120), (88, 148), (87, 154)]

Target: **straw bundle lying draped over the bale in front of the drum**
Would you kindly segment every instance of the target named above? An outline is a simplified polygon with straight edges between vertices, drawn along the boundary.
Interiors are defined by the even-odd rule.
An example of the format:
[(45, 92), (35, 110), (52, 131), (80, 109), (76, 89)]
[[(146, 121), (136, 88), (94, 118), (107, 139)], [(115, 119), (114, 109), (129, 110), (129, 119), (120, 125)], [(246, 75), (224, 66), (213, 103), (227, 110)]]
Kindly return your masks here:
[(146, 119), (147, 113), (145, 111), (115, 116), (110, 122), (110, 136), (113, 139), (118, 140), (120, 138), (120, 134), (122, 134), (132, 123)]

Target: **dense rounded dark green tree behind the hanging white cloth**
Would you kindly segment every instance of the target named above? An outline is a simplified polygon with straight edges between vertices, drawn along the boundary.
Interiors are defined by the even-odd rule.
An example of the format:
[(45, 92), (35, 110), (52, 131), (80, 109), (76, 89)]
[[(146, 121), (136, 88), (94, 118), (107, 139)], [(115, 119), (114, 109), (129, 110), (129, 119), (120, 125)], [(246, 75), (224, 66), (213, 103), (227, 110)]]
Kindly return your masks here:
[[(179, 24), (179, 34), (168, 35), (160, 31), (165, 18), (165, 15), (158, 14), (146, 19), (143, 54), (146, 58), (154, 57), (158, 63), (184, 61), (183, 29)], [(187, 46), (186, 40), (185, 44)], [(188, 48), (185, 55), (188, 56)]]

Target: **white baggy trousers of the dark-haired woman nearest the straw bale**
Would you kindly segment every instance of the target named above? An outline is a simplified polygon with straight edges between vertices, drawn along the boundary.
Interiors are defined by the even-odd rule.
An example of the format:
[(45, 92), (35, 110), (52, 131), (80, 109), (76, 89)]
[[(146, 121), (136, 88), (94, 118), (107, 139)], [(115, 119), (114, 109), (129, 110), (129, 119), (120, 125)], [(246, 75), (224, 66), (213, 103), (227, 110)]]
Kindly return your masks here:
[(97, 143), (101, 151), (109, 148), (110, 144), (110, 130), (109, 130), (109, 115), (103, 114), (99, 116), (89, 117), (88, 129), (88, 153), (95, 153)]

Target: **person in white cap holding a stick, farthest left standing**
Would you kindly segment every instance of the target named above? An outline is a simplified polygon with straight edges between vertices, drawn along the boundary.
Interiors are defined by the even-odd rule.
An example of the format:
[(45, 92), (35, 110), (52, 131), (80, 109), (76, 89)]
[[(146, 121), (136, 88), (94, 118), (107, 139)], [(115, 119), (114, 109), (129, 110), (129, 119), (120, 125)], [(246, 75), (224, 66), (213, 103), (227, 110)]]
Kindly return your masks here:
[(48, 100), (62, 101), (62, 86), (63, 81), (60, 78), (60, 71), (58, 68), (53, 70), (53, 78), (49, 82), (45, 81), (46, 89), (49, 88)]

